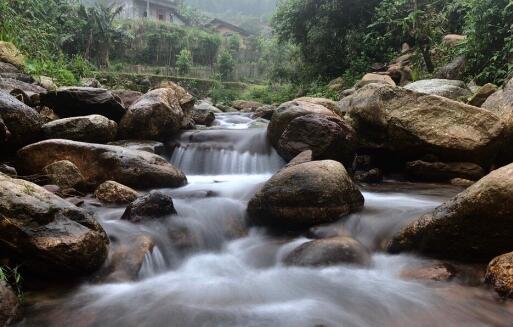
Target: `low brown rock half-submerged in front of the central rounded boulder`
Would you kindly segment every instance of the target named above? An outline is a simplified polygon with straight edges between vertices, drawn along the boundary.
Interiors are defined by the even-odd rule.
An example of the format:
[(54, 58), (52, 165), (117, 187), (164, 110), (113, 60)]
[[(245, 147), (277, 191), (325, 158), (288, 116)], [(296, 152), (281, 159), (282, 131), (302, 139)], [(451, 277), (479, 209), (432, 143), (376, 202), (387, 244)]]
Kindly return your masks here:
[(350, 237), (314, 240), (296, 248), (284, 262), (289, 266), (333, 266), (339, 264), (368, 265), (369, 252)]

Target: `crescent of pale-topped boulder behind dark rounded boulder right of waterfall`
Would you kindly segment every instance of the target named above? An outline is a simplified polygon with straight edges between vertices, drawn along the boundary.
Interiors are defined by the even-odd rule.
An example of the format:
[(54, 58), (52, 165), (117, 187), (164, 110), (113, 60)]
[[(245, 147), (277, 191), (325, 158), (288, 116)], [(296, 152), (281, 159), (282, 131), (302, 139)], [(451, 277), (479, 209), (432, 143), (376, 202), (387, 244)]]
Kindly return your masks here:
[(278, 145), (281, 135), (292, 120), (308, 114), (338, 117), (333, 111), (319, 104), (296, 100), (285, 102), (276, 109), (267, 127), (267, 137), (271, 144), (274, 146)]

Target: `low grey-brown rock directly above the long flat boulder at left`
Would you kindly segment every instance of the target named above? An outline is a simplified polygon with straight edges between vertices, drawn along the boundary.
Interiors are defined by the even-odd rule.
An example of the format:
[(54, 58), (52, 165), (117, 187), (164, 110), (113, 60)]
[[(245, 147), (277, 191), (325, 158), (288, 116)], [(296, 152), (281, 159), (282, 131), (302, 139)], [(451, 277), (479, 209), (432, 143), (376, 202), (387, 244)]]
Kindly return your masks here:
[(54, 120), (42, 128), (48, 139), (107, 143), (116, 138), (118, 124), (104, 116), (90, 115)]

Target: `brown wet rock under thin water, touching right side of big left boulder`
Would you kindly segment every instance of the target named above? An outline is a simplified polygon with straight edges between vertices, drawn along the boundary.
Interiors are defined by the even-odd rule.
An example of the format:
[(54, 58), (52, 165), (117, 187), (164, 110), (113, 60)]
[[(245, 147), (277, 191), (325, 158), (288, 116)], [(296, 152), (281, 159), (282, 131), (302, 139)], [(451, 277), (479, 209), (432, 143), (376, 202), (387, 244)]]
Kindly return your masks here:
[(146, 235), (134, 237), (130, 242), (117, 246), (105, 268), (105, 281), (119, 283), (137, 280), (144, 258), (151, 255), (154, 246), (155, 242)]

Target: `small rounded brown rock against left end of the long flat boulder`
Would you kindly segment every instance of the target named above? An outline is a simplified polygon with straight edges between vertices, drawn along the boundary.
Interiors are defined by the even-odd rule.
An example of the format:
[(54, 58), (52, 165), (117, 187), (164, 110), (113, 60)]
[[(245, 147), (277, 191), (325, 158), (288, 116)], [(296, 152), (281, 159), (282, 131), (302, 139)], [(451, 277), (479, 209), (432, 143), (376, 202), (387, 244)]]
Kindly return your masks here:
[(60, 188), (81, 188), (84, 185), (84, 176), (74, 163), (68, 160), (55, 161), (43, 168), (50, 183)]

